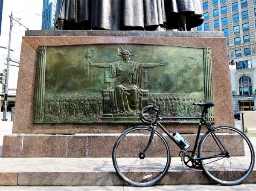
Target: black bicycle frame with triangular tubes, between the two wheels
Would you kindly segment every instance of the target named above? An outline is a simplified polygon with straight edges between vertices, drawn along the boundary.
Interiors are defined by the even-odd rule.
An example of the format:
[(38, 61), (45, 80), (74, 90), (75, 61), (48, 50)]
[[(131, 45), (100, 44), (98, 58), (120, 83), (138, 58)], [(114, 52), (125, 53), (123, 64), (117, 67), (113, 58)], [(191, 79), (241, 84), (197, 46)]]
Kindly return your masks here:
[[(194, 161), (198, 161), (198, 160), (205, 160), (205, 159), (211, 159), (211, 158), (217, 158), (217, 157), (225, 157), (226, 154), (228, 153), (228, 151), (226, 150), (226, 148), (224, 147), (224, 145), (221, 143), (221, 141), (218, 139), (218, 137), (214, 134), (212, 128), (211, 128), (211, 124), (204, 119), (204, 116), (207, 112), (207, 109), (203, 110), (202, 116), (201, 117), (157, 117), (155, 119), (154, 125), (158, 125), (167, 135), (168, 137), (170, 137), (170, 139), (183, 151), (186, 152), (186, 149), (180, 145), (180, 143), (172, 136), (172, 134), (170, 134), (166, 128), (163, 127), (163, 125), (158, 122), (158, 120), (200, 120), (199, 126), (198, 126), (198, 132), (197, 132), (197, 136), (196, 136), (196, 140), (195, 140), (195, 145), (194, 145), (194, 149), (192, 151), (192, 154), (190, 155), (188, 152), (186, 152), (186, 154), (188, 156), (190, 156)], [(158, 115), (158, 114), (157, 114)], [(196, 148), (198, 147), (198, 140), (199, 140), (199, 136), (200, 136), (200, 132), (201, 132), (201, 128), (203, 123), (207, 126), (207, 129), (212, 131), (213, 134), (213, 139), (215, 139), (215, 142), (218, 144), (218, 147), (224, 148), (224, 150), (226, 151), (226, 154), (221, 154), (221, 155), (212, 155), (212, 156), (208, 156), (208, 157), (195, 157), (195, 152), (196, 152)], [(149, 143), (150, 144), (150, 143)], [(220, 145), (221, 146), (220, 146)]]

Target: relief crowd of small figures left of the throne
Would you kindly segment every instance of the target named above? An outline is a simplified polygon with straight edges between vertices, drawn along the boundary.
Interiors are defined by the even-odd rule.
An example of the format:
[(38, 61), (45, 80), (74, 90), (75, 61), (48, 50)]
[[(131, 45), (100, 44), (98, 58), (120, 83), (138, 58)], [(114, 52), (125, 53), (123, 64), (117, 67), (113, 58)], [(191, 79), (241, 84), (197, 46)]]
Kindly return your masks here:
[(102, 95), (96, 93), (45, 93), (44, 120), (100, 120)]

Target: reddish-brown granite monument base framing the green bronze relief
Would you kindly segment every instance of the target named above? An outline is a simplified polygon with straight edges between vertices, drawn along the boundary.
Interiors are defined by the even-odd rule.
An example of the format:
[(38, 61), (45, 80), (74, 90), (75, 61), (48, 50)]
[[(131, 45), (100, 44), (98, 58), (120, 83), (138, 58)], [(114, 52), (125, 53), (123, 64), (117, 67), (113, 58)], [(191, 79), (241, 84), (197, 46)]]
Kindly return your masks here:
[[(109, 157), (117, 137), (112, 134), (121, 133), (129, 127), (142, 124), (138, 121), (129, 123), (119, 120), (95, 123), (35, 121), (35, 101), (38, 99), (35, 97), (38, 86), (38, 47), (102, 44), (210, 48), (212, 92), (215, 101), (212, 123), (215, 126), (223, 124), (234, 126), (227, 45), (226, 38), (221, 32), (26, 31), (21, 48), (13, 134), (4, 137), (3, 157)], [(198, 122), (179, 121), (164, 125), (170, 132), (193, 134), (197, 132)], [(87, 135), (89, 133), (93, 135)], [(191, 140), (190, 143), (192, 142)], [(92, 150), (90, 152), (88, 150), (88, 153), (87, 144), (92, 145), (92, 147), (89, 146)], [(95, 152), (94, 149), (99, 145), (105, 146), (103, 152), (91, 155), (90, 153)], [(108, 150), (107, 154), (104, 153), (105, 150)]]

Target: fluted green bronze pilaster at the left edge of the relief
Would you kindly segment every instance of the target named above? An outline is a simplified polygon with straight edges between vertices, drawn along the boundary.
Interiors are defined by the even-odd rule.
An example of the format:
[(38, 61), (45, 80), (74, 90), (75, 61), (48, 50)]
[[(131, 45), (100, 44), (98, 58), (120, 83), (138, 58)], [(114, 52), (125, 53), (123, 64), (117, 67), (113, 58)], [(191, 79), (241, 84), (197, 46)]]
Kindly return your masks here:
[(46, 46), (38, 46), (38, 62), (36, 73), (35, 89), (35, 121), (44, 120), (44, 83), (45, 83), (45, 64)]

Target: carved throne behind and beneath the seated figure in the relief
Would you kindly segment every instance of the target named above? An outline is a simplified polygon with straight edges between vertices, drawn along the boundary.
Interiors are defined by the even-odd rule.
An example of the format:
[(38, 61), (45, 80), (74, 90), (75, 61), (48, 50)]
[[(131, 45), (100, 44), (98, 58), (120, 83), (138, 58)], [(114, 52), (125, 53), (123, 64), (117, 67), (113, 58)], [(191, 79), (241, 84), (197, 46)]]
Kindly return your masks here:
[[(109, 106), (110, 103), (110, 95), (112, 91), (113, 84), (115, 83), (115, 78), (109, 77), (109, 71), (104, 72), (104, 82), (108, 83), (108, 89), (103, 90), (103, 116), (102, 121), (139, 121), (139, 115), (138, 116), (122, 116), (117, 117), (114, 116), (111, 113), (111, 108)], [(144, 90), (142, 90), (142, 103), (140, 107), (144, 107), (148, 105), (148, 90), (145, 90), (147, 88), (147, 82), (148, 82), (148, 71), (142, 72), (142, 83)]]

